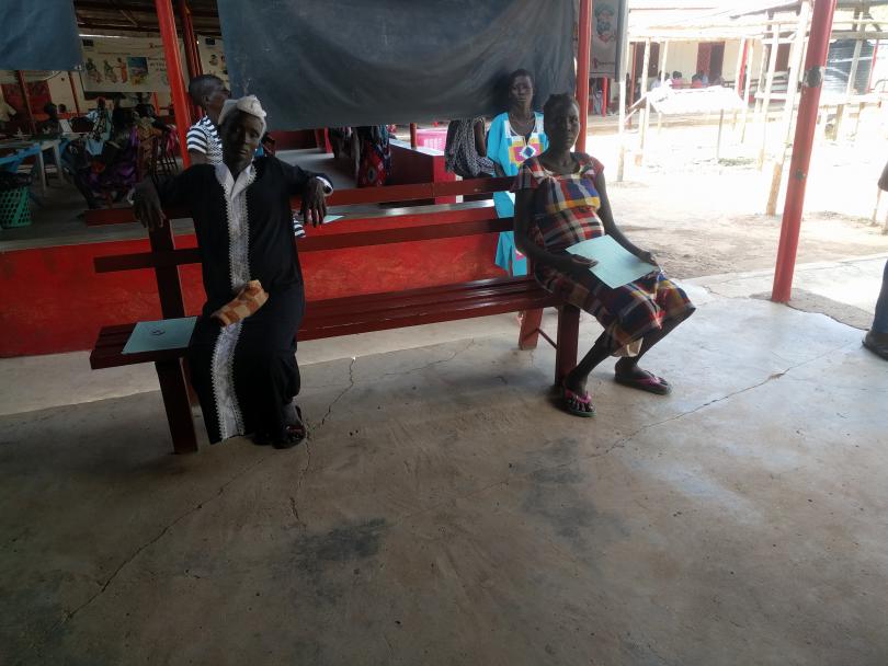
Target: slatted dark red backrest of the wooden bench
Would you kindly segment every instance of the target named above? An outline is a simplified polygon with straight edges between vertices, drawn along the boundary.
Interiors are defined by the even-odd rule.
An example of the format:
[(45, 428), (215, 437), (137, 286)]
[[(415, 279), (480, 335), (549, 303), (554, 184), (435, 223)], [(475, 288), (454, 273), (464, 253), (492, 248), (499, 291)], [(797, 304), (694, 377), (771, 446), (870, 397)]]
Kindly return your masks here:
[[(357, 204), (409, 203), (441, 196), (474, 195), (502, 192), (511, 187), (513, 179), (473, 179), (446, 183), (388, 185), (341, 190), (328, 199), (328, 206)], [(299, 197), (291, 200), (294, 210), (301, 205)], [(186, 210), (164, 210), (169, 219), (186, 218)], [(89, 210), (88, 222), (121, 223), (136, 221), (132, 208)], [(512, 218), (498, 218), (492, 205), (437, 206), (434, 210), (422, 207), (389, 208), (374, 215), (358, 215), (338, 220), (329, 227), (307, 229), (306, 238), (298, 241), (299, 252), (318, 252), (343, 248), (361, 248), (433, 239), (476, 236), (510, 231)], [(166, 319), (185, 315), (179, 266), (200, 263), (197, 248), (177, 248), (172, 226), (166, 223), (149, 231), (150, 252), (95, 257), (96, 273), (153, 268), (160, 296), (161, 312)], [(294, 239), (294, 242), (296, 240)]]

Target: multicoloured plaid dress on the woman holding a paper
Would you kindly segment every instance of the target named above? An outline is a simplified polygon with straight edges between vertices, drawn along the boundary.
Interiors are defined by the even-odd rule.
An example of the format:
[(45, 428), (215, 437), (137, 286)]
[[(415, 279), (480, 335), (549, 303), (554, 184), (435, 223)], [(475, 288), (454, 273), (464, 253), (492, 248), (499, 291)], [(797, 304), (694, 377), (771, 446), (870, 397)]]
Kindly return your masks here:
[[(596, 213), (601, 198), (594, 184), (604, 166), (588, 154), (574, 157), (579, 169), (570, 175), (551, 173), (531, 158), (512, 186), (513, 192), (534, 191), (531, 239), (553, 254), (565, 254), (570, 245), (605, 233)], [(536, 264), (534, 276), (547, 290), (597, 319), (614, 352), (640, 341), (664, 321), (694, 310), (681, 287), (660, 271), (615, 289), (592, 272), (576, 277)]]

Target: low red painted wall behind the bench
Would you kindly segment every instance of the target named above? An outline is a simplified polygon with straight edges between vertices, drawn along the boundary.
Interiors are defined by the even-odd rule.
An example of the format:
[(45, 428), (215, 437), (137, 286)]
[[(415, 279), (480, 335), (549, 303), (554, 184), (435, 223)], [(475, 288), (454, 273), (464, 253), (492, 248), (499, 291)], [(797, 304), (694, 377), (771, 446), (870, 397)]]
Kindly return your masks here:
[[(180, 246), (194, 242), (177, 237)], [(300, 261), (311, 300), (496, 277), (496, 248), (488, 234), (312, 252)], [(160, 319), (152, 271), (93, 268), (96, 256), (148, 250), (139, 240), (0, 253), (0, 357), (90, 349), (103, 325)], [(180, 275), (187, 311), (197, 313), (201, 267), (183, 266)]]

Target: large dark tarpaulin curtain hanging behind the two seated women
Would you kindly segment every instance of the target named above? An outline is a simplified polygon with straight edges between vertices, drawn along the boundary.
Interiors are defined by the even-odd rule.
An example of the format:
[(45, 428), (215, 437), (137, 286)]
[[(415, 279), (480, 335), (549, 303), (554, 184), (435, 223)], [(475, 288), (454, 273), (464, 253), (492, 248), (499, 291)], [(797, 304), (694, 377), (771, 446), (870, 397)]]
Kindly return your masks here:
[(235, 94), (272, 129), (464, 118), (504, 111), (508, 72), (535, 105), (573, 92), (572, 0), (218, 0)]

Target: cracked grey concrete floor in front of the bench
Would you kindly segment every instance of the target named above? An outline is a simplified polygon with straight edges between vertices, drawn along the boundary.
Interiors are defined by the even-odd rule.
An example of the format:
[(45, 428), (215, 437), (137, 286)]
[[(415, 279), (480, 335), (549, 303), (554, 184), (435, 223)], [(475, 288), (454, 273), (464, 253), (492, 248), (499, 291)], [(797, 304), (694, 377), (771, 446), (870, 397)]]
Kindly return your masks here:
[(888, 663), (888, 366), (731, 295), (650, 355), (672, 395), (608, 361), (591, 421), (508, 318), (306, 345), (292, 451), (175, 457), (147, 380), (4, 361), (75, 383), (0, 416), (0, 664)]

